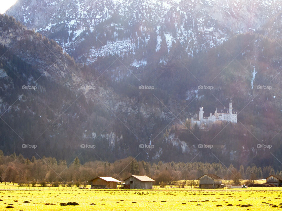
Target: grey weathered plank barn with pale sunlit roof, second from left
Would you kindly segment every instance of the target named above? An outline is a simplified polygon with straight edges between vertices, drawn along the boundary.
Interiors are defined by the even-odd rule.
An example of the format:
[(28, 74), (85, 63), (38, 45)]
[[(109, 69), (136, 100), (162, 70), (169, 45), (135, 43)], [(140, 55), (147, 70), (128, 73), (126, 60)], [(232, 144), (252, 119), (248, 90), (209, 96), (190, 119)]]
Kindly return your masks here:
[(147, 176), (132, 175), (124, 180), (125, 189), (152, 189), (155, 180)]

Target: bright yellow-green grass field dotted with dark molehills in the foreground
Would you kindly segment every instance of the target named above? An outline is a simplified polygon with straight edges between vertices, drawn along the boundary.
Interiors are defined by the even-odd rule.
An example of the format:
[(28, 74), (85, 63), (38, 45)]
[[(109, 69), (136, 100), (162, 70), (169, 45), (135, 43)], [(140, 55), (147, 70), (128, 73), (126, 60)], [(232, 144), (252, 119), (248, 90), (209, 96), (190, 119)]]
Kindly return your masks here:
[[(178, 189), (0, 190), (0, 210), (282, 210), (282, 188)], [(79, 205), (60, 206), (68, 202)], [(252, 206), (241, 206), (248, 204)]]

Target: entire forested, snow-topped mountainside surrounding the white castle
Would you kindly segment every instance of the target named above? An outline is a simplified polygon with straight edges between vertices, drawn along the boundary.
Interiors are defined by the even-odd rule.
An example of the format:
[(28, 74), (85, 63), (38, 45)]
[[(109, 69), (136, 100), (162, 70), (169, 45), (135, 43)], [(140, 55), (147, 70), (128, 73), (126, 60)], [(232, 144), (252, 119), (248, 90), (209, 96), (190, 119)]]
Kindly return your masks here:
[[(7, 14), (19, 22), (0, 22), (1, 149), (82, 162), (244, 165), (257, 156), (254, 164), (278, 166), (280, 3), (18, 1)], [(229, 98), (237, 125), (183, 129), (200, 106), (208, 116)]]

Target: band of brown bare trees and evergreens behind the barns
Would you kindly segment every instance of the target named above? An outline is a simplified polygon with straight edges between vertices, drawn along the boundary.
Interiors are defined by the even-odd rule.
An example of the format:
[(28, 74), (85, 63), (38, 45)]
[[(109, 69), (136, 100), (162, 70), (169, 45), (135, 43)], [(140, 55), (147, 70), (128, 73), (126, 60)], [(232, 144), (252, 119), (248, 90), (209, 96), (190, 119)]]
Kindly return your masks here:
[[(52, 157), (30, 159), (21, 154), (5, 156), (0, 150), (0, 182), (19, 183), (20, 186), (86, 186), (97, 176), (111, 176), (120, 181), (131, 175), (147, 175), (156, 181), (156, 185), (192, 185), (205, 173), (215, 173), (229, 183), (240, 183), (241, 179), (254, 180), (266, 178), (270, 174), (282, 176), (282, 170), (276, 172), (271, 166), (263, 169), (256, 165), (240, 166), (236, 169), (221, 163), (168, 162), (150, 163), (137, 161), (132, 157), (109, 163), (107, 161), (89, 161), (80, 163), (78, 157), (73, 162), (56, 160)], [(192, 186), (191, 185), (191, 186)]]

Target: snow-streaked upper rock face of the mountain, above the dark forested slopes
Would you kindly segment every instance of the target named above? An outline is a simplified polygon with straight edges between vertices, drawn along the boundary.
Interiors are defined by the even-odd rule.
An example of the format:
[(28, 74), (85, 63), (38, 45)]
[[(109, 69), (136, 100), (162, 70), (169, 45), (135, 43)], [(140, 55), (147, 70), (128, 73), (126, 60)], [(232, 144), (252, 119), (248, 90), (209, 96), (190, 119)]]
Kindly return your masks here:
[(91, 64), (97, 57), (121, 55), (123, 59), (126, 55), (124, 65), (142, 63), (134, 66), (144, 67), (150, 64), (150, 58), (154, 58), (152, 62), (166, 63), (179, 55), (179, 59), (193, 57), (234, 35), (268, 27), (281, 11), (281, 3), (281, 0), (19, 0), (6, 13), (54, 39), (77, 62)]

